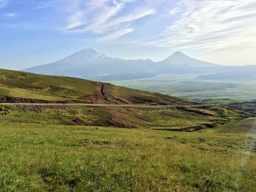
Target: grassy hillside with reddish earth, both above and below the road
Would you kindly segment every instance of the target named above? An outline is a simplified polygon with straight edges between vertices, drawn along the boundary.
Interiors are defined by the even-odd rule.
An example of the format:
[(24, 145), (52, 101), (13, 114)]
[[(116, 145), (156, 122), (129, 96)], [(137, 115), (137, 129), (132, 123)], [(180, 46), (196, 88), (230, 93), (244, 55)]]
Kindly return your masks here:
[[(86, 102), (97, 104), (192, 104), (159, 93), (102, 82), (0, 70), (1, 102)], [(6, 123), (41, 123), (124, 128), (170, 128), (227, 123), (246, 114), (223, 106), (138, 109), (129, 107), (7, 106)], [(207, 124), (207, 126), (205, 125)], [(192, 128), (193, 129), (193, 128)], [(189, 129), (190, 130), (190, 129)]]

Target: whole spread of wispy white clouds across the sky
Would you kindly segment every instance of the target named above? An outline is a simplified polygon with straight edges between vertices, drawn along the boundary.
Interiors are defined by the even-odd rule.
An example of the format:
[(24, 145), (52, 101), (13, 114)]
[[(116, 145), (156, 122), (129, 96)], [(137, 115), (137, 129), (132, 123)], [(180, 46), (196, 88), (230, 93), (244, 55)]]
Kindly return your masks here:
[[(0, 0), (0, 7), (7, 3), (8, 0)], [(62, 31), (90, 34), (98, 42), (118, 39), (129, 33), (124, 43), (137, 42), (137, 45), (152, 47), (218, 50), (256, 43), (255, 0), (38, 2), (38, 9), (48, 7), (61, 12), (61, 24), (66, 23)], [(6, 16), (14, 14), (10, 12)], [(136, 32), (142, 35), (132, 36)]]

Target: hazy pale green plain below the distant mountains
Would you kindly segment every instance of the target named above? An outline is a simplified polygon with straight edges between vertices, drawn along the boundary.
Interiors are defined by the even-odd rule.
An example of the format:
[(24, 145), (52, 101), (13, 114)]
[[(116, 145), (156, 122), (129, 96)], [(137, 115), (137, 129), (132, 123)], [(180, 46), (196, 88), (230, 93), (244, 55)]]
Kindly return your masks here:
[(198, 74), (162, 74), (140, 80), (110, 82), (143, 91), (154, 91), (186, 99), (222, 104), (256, 99), (255, 81), (200, 80), (197, 77)]

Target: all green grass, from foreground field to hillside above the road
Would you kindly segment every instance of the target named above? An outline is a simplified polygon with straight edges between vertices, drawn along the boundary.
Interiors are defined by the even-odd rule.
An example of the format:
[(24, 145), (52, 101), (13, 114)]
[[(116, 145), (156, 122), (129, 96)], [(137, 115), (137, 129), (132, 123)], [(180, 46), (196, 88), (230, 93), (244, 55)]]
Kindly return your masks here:
[[(102, 102), (101, 85), (108, 86), (112, 101), (190, 103), (99, 82), (0, 70), (0, 98)], [(6, 107), (10, 111), (0, 115), (3, 192), (256, 188), (256, 119), (229, 107)], [(217, 127), (167, 131), (204, 123)]]

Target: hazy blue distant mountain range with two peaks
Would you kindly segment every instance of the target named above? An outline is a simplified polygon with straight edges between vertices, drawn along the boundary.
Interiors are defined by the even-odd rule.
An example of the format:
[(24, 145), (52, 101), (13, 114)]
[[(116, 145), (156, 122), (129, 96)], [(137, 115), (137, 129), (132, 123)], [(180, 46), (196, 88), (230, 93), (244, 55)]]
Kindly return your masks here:
[(111, 58), (92, 49), (80, 50), (59, 61), (24, 69), (37, 74), (80, 77), (89, 80), (132, 80), (159, 74), (202, 74), (204, 80), (256, 80), (256, 66), (222, 66), (173, 53), (163, 61)]

